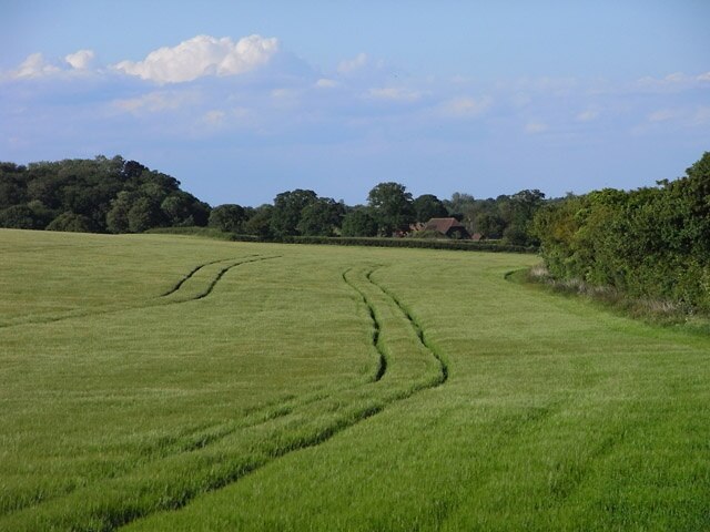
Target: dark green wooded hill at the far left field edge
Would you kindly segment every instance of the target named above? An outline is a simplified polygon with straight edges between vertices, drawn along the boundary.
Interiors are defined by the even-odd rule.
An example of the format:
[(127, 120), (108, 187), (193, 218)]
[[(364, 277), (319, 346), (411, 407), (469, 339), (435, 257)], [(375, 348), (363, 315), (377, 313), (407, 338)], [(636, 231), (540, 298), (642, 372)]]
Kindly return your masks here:
[(121, 156), (0, 163), (0, 226), (139, 233), (206, 225), (210, 206), (170, 175)]

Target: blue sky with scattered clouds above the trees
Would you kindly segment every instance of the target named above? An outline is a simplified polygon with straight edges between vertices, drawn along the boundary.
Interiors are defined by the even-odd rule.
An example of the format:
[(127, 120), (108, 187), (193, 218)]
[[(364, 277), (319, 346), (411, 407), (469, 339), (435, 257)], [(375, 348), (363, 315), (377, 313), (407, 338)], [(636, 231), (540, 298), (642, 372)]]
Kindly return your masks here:
[(0, 161), (122, 155), (211, 205), (548, 197), (710, 151), (710, 1), (0, 0)]

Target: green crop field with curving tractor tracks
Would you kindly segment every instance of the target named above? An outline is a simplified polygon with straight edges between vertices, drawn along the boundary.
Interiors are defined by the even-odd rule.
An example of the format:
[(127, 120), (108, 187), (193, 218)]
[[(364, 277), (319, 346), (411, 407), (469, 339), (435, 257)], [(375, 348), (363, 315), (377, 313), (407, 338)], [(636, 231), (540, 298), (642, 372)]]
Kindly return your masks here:
[(0, 530), (710, 530), (710, 338), (534, 255), (0, 231)]

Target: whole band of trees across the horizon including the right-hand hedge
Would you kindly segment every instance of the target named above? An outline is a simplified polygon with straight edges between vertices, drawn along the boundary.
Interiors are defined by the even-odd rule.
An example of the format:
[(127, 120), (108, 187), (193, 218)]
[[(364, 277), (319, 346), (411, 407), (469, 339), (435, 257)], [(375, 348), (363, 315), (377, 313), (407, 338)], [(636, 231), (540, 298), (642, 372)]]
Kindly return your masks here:
[(210, 206), (174, 177), (136, 161), (0, 163), (0, 227), (141, 233), (210, 226), (278, 241), (297, 237), (436, 236), (417, 231), (455, 217), (470, 234), (516, 246), (539, 245), (549, 273), (631, 296), (710, 313), (710, 153), (676, 181), (635, 191), (605, 188), (546, 200), (538, 190), (477, 200), (418, 197), (399, 183), (374, 186), (348, 206), (314, 191), (277, 194), (257, 207)]

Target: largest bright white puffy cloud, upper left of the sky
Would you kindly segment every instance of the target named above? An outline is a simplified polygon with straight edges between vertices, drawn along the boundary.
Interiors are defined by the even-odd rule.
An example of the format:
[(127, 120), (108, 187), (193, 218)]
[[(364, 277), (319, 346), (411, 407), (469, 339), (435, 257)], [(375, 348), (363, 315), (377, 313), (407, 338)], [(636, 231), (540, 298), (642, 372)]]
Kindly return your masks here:
[(121, 61), (114, 69), (158, 83), (180, 83), (204, 75), (250, 72), (278, 52), (278, 40), (250, 35), (237, 42), (224, 37), (197, 35), (173, 48), (161, 48), (143, 61)]

